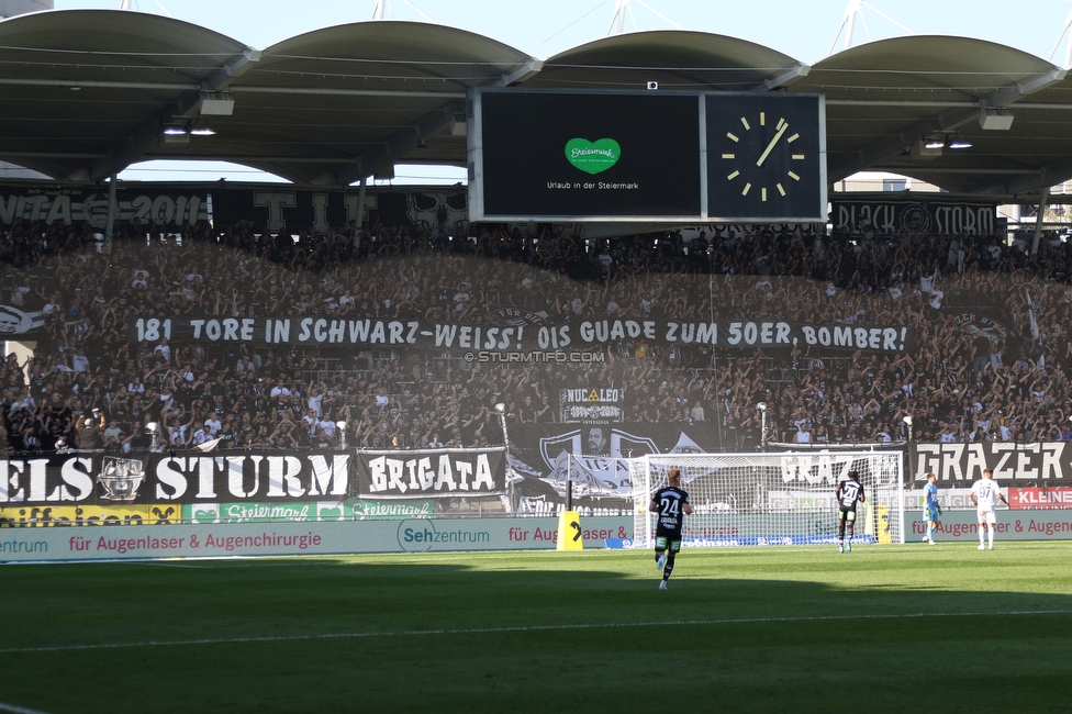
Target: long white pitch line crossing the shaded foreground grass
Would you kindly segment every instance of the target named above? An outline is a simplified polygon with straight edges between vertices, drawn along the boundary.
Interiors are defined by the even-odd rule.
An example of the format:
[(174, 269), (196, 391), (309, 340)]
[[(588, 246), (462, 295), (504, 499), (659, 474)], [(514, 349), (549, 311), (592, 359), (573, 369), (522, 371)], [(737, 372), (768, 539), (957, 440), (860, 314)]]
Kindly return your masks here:
[[(1068, 615), (1072, 610), (1006, 610), (998, 612), (915, 612), (901, 615), (815, 615), (811, 617), (738, 617), (724, 620), (671, 620), (638, 623), (580, 623), (561, 625), (517, 625), (515, 627), (472, 627), (454, 629), (413, 629), (367, 633), (325, 633), (322, 635), (278, 635), (272, 637), (220, 637), (213, 639), (149, 639), (141, 643), (94, 643), (89, 645), (52, 645), (48, 647), (7, 647), (0, 655), (27, 655), (31, 652), (69, 652), (100, 649), (129, 649), (134, 647), (176, 647), (182, 645), (241, 645), (246, 643), (287, 643), (311, 639), (358, 639), (364, 637), (427, 637), (434, 635), (500, 635), (505, 633), (535, 633), (570, 629), (614, 629), (618, 627), (666, 627), (696, 625), (755, 625), (770, 623), (833, 622), (844, 620), (908, 620), (920, 617), (979, 617), (995, 615)], [(0, 709), (0, 711), (3, 711)]]

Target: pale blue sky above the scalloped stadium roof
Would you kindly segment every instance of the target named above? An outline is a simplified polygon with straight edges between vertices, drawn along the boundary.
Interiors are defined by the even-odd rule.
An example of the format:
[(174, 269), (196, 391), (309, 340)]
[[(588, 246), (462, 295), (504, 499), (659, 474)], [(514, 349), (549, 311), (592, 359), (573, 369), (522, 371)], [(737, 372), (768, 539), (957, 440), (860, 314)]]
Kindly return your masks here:
[[(539, 58), (607, 34), (619, 0), (384, 0), (386, 16), (435, 22), (499, 40)], [(56, 9), (119, 8), (121, 0), (55, 0)], [(373, 0), (132, 0), (257, 48), (320, 27), (370, 20)], [(859, 3), (853, 44), (906, 34), (989, 40), (1063, 64), (1053, 53), (1070, 0), (872, 0)], [(632, 0), (627, 31), (680, 27), (730, 35), (814, 63), (841, 49), (848, 0)], [(862, 16), (862, 20), (859, 19)], [(836, 42), (835, 42), (836, 40)]]

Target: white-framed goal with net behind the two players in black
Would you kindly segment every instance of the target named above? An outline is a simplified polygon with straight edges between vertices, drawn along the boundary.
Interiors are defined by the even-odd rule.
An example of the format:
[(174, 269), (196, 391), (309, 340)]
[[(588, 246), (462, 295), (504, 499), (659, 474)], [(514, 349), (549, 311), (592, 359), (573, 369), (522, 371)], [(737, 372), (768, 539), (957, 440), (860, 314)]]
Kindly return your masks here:
[(852, 543), (904, 543), (901, 451), (678, 454), (629, 459), (634, 547), (650, 547), (651, 495), (681, 469), (692, 515), (682, 547), (837, 543), (834, 489), (859, 472), (867, 502), (857, 507)]

